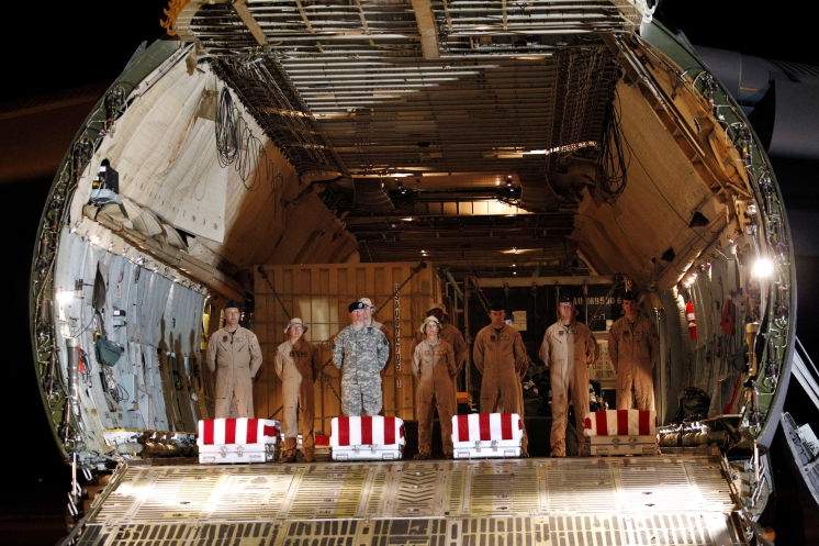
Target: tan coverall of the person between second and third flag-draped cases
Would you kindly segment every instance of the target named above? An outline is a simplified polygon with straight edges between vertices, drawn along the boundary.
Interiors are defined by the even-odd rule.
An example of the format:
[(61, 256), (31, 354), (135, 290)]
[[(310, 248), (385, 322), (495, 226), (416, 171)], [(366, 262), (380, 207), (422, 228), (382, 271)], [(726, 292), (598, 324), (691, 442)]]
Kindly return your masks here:
[(415, 409), (418, 412), (418, 453), (429, 456), (433, 445), (433, 404), (438, 410), (444, 455), (452, 456), (452, 415), (457, 411), (455, 377), (458, 374), (455, 350), (445, 339), (433, 344), (424, 339), (413, 352)]

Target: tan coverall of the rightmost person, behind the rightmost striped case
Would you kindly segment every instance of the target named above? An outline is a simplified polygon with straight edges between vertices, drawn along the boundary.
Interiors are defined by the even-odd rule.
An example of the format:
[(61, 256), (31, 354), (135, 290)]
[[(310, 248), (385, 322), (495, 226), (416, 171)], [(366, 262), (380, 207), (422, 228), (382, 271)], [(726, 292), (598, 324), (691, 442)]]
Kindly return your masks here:
[[(654, 410), (653, 369), (658, 356), (658, 335), (651, 321), (639, 313), (635, 322), (626, 316), (608, 331), (608, 355), (617, 374), (617, 409)], [(631, 390), (633, 389), (633, 400)]]

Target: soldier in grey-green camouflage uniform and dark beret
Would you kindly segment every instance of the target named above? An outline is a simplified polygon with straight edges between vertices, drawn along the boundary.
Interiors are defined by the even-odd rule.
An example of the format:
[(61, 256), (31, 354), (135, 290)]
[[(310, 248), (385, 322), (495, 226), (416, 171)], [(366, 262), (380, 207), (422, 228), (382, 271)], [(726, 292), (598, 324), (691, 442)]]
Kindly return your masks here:
[(381, 370), (390, 346), (383, 332), (368, 325), (364, 304), (350, 303), (350, 325), (336, 336), (333, 364), (341, 370), (341, 412), (345, 415), (378, 415), (381, 412)]

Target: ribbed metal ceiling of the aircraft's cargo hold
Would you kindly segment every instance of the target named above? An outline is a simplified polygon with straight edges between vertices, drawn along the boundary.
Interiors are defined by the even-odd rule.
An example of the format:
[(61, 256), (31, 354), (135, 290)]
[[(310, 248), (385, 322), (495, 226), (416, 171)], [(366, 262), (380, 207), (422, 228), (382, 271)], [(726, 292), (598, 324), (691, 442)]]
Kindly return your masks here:
[[(446, 225), (483, 230), (492, 247), (514, 247), (517, 237), (565, 265), (562, 237), (577, 187), (590, 180), (564, 175), (575, 159), (599, 163), (620, 74), (601, 36), (633, 32), (639, 20), (624, 1), (273, 0), (189, 2), (176, 30), (198, 42), (301, 175), (356, 180), (336, 186), (326, 202), (349, 222), (362, 259), (419, 257), (414, 239), (439, 239)], [(418, 203), (400, 198), (424, 196), (422, 175), (430, 174), (451, 176), (452, 194), (438, 179), (441, 212), (427, 210), (408, 233), (395, 221), (416, 214)], [(458, 193), (475, 190), (473, 178), (514, 180), (490, 199), (536, 218), (447, 224), (444, 203), (460, 216), (457, 203), (475, 202)], [(338, 199), (345, 191), (352, 197)], [(373, 215), (377, 237), (356, 227), (356, 219)], [(427, 257), (470, 259), (478, 248), (457, 241), (463, 236), (439, 252), (433, 242)]]

